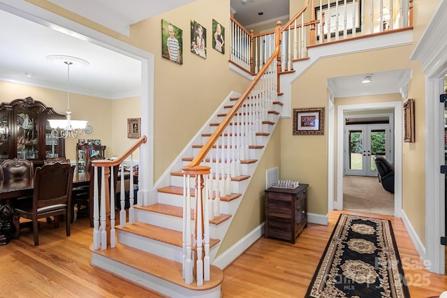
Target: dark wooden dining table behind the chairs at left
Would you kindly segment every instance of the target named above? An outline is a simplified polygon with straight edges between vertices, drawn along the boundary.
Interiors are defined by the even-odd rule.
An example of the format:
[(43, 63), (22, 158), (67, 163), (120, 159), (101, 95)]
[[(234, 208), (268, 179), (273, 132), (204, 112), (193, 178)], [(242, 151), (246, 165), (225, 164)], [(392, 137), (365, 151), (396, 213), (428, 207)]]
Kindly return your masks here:
[[(89, 185), (89, 181), (88, 172), (73, 173), (73, 188)], [(16, 198), (32, 200), (33, 190), (33, 178), (0, 181), (0, 246), (8, 244), (10, 239), (20, 234), (13, 225), (14, 201)]]

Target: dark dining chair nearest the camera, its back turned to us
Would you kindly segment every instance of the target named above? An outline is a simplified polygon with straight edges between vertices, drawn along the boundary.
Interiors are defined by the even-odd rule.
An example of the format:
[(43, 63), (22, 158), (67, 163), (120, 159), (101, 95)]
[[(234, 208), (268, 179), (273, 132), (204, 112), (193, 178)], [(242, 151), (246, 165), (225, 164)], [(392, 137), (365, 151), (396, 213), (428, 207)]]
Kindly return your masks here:
[[(38, 219), (49, 216), (64, 216), (66, 235), (70, 236), (71, 189), (73, 188), (74, 165), (54, 163), (36, 168), (32, 202), (22, 200), (15, 206), (16, 218), (28, 218), (33, 223), (34, 245), (39, 245)], [(16, 229), (20, 230), (20, 226)]]

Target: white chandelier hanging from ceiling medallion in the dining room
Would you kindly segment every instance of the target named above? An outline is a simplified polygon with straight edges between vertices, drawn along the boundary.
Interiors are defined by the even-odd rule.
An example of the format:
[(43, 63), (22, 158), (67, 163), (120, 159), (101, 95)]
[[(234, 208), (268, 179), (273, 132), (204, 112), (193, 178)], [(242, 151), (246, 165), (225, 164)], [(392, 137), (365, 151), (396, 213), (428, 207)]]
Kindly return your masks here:
[(73, 137), (74, 139), (78, 137), (83, 137), (85, 135), (85, 126), (87, 126), (86, 120), (72, 120), (71, 119), (71, 111), (70, 111), (70, 66), (73, 63), (81, 64), (84, 66), (89, 65), (89, 63), (85, 60), (61, 56), (61, 55), (52, 55), (48, 56), (47, 60), (55, 60), (55, 61), (63, 61), (67, 66), (67, 111), (66, 111), (66, 119), (47, 119), (50, 123), (50, 127), (52, 128), (51, 135), (57, 139)]

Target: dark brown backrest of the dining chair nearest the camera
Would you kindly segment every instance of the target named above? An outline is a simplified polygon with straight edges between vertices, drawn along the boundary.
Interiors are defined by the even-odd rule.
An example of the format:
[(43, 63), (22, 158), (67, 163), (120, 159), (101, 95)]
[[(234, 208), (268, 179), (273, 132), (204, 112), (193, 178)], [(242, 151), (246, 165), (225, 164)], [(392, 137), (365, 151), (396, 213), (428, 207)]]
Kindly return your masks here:
[(71, 200), (74, 165), (54, 163), (36, 168), (34, 176), (34, 207), (67, 204)]

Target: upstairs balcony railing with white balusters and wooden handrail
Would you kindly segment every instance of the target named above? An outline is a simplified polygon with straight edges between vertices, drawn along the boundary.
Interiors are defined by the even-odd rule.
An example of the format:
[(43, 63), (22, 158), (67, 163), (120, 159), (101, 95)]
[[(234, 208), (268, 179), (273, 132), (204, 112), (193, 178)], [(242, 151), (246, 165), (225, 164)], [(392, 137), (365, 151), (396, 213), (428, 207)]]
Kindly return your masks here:
[[(279, 73), (307, 59), (308, 47), (390, 33), (413, 26), (413, 0), (312, 0), (281, 27)], [(230, 62), (255, 75), (274, 50), (274, 31), (247, 31), (231, 18)]]

